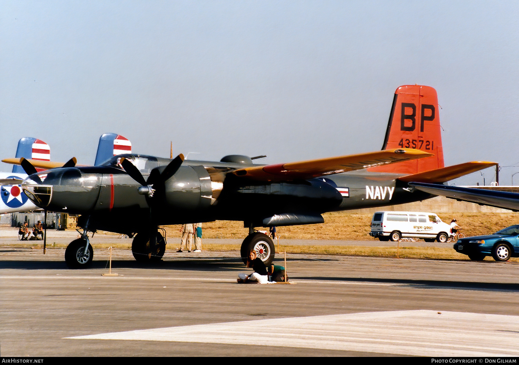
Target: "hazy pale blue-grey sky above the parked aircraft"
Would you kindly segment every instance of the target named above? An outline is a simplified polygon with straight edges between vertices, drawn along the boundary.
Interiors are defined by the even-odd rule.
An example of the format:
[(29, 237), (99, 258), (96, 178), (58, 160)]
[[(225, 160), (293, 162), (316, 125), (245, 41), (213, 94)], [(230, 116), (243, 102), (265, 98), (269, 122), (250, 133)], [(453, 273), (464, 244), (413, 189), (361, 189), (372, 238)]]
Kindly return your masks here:
[(107, 132), (163, 157), (170, 141), (208, 160), (371, 152), (394, 90), (421, 84), (438, 91), (446, 165), (519, 166), (518, 19), (496, 1), (2, 0), (0, 157), (36, 137), (93, 164)]

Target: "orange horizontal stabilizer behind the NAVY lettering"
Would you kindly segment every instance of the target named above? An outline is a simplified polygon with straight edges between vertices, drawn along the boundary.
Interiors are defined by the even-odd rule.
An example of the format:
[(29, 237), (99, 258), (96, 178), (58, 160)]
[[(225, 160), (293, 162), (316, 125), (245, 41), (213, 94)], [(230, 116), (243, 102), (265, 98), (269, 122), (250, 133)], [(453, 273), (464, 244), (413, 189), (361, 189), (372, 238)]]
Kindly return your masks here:
[(411, 182), (427, 182), (427, 183), (440, 183), (449, 180), (454, 180), (462, 176), (468, 175), (469, 173), (483, 170), (492, 166), (496, 166), (497, 163), (487, 161), (472, 161), (465, 164), (454, 165), (443, 167), (441, 169), (435, 169), (426, 172), (419, 172), (412, 175), (406, 175), (399, 178), (400, 181)]

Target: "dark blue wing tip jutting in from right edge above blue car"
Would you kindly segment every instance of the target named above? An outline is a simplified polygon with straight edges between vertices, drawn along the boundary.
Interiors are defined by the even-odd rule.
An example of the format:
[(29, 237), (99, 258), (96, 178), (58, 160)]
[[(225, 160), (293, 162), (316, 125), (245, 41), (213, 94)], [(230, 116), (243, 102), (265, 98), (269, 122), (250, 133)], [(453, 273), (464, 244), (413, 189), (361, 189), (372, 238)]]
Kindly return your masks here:
[(484, 190), (474, 187), (447, 186), (411, 182), (410, 186), (429, 194), (446, 196), (456, 200), (470, 201), (480, 205), (519, 210), (519, 193)]

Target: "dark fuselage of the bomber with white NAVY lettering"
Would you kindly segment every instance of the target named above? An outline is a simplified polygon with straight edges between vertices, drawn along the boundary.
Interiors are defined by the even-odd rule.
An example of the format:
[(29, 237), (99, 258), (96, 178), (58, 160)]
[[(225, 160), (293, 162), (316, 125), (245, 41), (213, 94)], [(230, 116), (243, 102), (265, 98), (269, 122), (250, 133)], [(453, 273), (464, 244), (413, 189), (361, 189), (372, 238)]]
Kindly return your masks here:
[[(116, 157), (120, 156), (132, 159), (144, 178), (171, 161), (143, 155)], [(227, 173), (244, 164), (186, 160), (166, 181), (164, 196), (154, 199), (139, 194), (141, 185), (117, 166), (116, 157), (104, 166), (39, 172), (42, 184), (29, 177), (22, 186), (43, 209), (80, 214), (79, 225), (84, 226), (88, 218), (90, 230), (124, 234), (144, 231), (151, 221), (159, 225), (214, 220), (243, 221), (245, 226), (320, 223), (324, 212), (432, 196), (412, 191), (397, 180), (398, 174), (361, 170), (302, 181), (258, 182)]]

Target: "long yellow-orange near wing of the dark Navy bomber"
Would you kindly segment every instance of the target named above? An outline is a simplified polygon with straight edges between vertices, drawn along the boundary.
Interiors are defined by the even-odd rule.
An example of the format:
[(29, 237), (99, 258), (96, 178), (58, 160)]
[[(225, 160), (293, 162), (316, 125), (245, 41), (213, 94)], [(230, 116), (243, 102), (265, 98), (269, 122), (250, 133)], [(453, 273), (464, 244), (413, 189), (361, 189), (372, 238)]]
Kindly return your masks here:
[(398, 148), (394, 150), (321, 158), (288, 164), (253, 166), (235, 170), (233, 173), (238, 177), (251, 180), (290, 181), (318, 178), (334, 173), (361, 170), (368, 167), (387, 165), (429, 156), (432, 156), (432, 154), (411, 148)]

